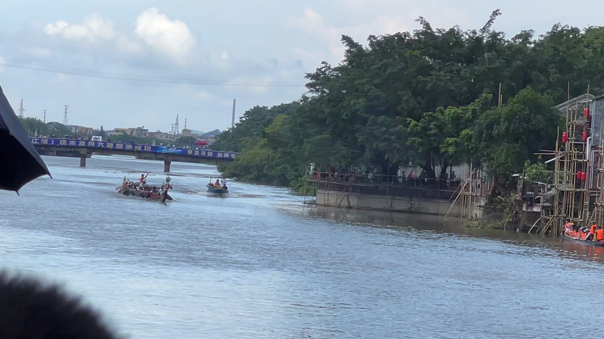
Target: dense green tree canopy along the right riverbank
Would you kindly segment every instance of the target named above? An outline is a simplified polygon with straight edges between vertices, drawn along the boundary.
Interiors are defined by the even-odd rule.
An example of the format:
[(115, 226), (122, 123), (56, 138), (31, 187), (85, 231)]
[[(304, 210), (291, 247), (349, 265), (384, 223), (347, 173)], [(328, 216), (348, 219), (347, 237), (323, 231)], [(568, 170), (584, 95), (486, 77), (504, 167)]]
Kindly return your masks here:
[[(326, 168), (422, 166), (474, 160), (493, 174), (521, 171), (540, 148), (552, 148), (567, 97), (604, 92), (604, 28), (561, 24), (536, 37), (492, 30), (420, 29), (342, 36), (344, 59), (307, 74), (295, 103), (254, 107), (217, 146), (243, 155), (226, 176), (295, 183), (308, 162)], [(499, 95), (501, 88), (501, 97)], [(501, 100), (501, 106), (500, 106)], [(393, 169), (392, 168), (392, 169)]]

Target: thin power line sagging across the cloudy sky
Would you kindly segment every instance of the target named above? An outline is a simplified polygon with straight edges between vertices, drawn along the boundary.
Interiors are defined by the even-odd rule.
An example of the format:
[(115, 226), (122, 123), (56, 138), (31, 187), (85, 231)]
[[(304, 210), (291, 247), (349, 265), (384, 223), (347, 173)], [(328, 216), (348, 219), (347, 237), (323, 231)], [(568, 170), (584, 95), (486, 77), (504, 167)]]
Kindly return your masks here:
[(44, 66), (34, 63), (15, 62), (13, 60), (5, 60), (2, 66), (30, 69), (33, 71), (52, 72), (68, 75), (79, 75), (81, 77), (105, 78), (114, 80), (132, 80), (146, 81), (156, 83), (172, 83), (172, 84), (199, 84), (207, 86), (272, 86), (272, 87), (303, 87), (304, 84), (280, 81), (218, 81), (218, 80), (200, 80), (187, 78), (165, 78), (165, 77), (149, 77), (144, 75), (129, 75), (117, 73), (104, 73), (97, 71), (86, 71), (83, 69), (64, 68), (59, 66)]

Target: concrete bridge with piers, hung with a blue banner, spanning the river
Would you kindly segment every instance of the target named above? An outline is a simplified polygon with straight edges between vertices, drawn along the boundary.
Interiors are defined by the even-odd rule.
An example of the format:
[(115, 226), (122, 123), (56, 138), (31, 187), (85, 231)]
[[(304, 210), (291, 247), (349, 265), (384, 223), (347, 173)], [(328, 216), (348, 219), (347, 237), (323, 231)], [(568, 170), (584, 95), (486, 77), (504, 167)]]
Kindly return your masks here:
[(193, 150), (158, 145), (140, 145), (127, 142), (88, 141), (58, 138), (30, 138), (36, 150), (43, 156), (79, 157), (80, 166), (86, 166), (86, 158), (92, 154), (135, 156), (143, 160), (163, 160), (164, 172), (170, 171), (170, 164), (176, 162), (210, 163), (235, 160), (239, 153)]

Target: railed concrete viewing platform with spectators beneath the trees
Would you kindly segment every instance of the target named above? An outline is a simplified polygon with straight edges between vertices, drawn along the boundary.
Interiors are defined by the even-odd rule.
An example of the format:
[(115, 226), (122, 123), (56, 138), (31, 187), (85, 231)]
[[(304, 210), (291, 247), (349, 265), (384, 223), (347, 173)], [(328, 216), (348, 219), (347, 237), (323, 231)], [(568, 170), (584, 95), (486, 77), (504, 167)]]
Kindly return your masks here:
[(488, 185), (478, 185), (475, 176), (466, 180), (412, 179), (313, 171), (306, 181), (316, 189), (316, 198), (309, 203), (318, 206), (445, 217), (480, 217), (488, 191)]

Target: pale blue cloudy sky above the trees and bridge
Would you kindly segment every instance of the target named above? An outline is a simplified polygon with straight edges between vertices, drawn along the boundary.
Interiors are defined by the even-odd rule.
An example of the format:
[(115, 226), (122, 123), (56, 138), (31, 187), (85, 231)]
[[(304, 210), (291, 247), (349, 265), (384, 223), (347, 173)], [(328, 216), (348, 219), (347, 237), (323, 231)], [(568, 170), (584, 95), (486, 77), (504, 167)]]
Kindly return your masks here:
[(62, 121), (68, 104), (69, 124), (168, 131), (178, 113), (181, 128), (187, 118), (188, 128), (224, 129), (234, 98), (237, 116), (300, 98), (305, 72), (342, 59), (341, 34), (364, 43), (414, 30), (418, 16), (435, 28), (478, 29), (496, 8), (493, 28), (508, 36), (604, 24), (596, 1), (7, 1), (0, 86), (15, 110), (24, 99), (25, 116), (46, 109), (47, 121)]

